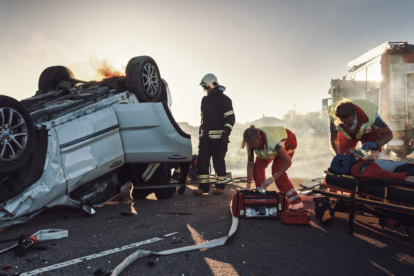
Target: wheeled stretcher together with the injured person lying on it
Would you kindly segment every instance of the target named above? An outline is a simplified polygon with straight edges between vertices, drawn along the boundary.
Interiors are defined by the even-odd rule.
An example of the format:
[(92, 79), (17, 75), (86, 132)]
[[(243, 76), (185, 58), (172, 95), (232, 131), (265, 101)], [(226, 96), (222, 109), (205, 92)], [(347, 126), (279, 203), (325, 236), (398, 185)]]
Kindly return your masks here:
[(322, 226), (333, 217), (364, 221), (398, 228), (414, 237), (414, 164), (405, 161), (377, 159), (378, 152), (348, 150), (336, 155), (325, 181), (313, 190), (315, 215)]

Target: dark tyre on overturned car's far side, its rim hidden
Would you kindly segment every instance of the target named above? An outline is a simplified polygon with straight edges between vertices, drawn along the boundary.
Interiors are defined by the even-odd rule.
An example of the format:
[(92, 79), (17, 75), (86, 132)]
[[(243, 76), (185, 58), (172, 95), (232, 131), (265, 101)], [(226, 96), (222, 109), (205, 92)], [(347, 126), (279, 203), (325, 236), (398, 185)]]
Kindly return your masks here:
[(55, 89), (61, 81), (73, 79), (74, 75), (65, 66), (51, 66), (43, 70), (39, 77), (39, 91), (36, 95), (44, 94), (50, 89)]

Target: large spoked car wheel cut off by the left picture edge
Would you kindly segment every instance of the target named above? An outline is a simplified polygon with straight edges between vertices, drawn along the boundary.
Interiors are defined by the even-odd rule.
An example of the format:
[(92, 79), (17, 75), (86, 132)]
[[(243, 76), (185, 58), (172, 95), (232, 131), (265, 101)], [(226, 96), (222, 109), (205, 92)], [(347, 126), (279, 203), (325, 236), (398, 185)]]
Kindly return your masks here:
[(0, 96), (0, 172), (20, 168), (34, 147), (34, 127), (28, 110), (19, 101)]

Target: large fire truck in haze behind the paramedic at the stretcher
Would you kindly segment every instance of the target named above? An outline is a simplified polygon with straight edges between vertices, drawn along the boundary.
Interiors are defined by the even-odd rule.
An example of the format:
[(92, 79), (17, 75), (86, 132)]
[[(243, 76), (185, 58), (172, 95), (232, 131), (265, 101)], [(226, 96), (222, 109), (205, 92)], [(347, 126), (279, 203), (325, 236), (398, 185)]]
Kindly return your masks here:
[(362, 98), (377, 104), (393, 131), (384, 154), (406, 159), (414, 152), (414, 45), (386, 41), (348, 62), (348, 74), (331, 79), (324, 109), (341, 99)]

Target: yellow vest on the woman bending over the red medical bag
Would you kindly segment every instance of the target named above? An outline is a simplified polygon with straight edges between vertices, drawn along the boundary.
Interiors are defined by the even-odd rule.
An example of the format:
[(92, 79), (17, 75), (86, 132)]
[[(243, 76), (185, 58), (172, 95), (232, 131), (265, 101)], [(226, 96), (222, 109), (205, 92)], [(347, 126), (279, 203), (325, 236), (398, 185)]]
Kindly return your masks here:
[[(263, 126), (260, 128), (266, 134), (266, 145), (264, 149), (255, 149), (255, 154), (263, 159), (273, 160), (278, 155), (275, 151), (277, 143), (288, 138), (288, 133), (284, 126)], [(284, 146), (284, 141), (282, 141)]]

